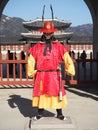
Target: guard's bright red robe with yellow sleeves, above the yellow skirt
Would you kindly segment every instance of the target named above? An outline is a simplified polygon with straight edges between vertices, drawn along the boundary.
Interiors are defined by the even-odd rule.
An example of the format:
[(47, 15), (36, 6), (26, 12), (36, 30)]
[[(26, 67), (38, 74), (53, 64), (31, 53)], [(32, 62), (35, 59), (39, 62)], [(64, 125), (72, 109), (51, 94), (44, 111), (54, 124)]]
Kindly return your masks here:
[[(41, 95), (59, 96), (60, 72), (57, 71), (60, 62), (65, 63), (65, 72), (74, 75), (74, 64), (69, 56), (68, 49), (60, 42), (53, 42), (51, 52), (47, 50), (44, 56), (45, 43), (37, 43), (30, 49), (28, 57), (28, 75), (35, 75), (33, 96)], [(35, 67), (36, 65), (36, 67)], [(62, 86), (63, 96), (66, 94)]]

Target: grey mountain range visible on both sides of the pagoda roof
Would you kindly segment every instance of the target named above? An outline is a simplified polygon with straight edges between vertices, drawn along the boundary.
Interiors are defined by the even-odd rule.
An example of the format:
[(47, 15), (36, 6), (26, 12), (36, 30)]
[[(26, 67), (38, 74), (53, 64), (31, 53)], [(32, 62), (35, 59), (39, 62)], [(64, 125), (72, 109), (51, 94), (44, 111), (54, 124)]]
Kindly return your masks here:
[[(28, 32), (23, 27), (24, 20), (18, 17), (8, 17), (2, 15), (0, 24), (0, 43), (15, 43), (21, 39), (21, 32)], [(69, 27), (67, 32), (73, 32), (73, 37), (70, 39), (73, 42), (92, 42), (93, 40), (93, 25), (85, 24), (76, 27)]]

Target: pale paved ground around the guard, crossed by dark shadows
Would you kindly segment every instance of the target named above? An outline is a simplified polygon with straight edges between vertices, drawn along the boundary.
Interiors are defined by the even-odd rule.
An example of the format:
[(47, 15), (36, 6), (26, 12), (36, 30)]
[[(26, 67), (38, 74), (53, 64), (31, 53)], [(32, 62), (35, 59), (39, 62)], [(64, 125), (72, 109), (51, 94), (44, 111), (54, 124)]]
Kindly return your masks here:
[[(35, 127), (34, 130), (98, 130), (98, 85), (65, 88), (68, 106), (63, 113), (71, 122), (57, 121), (53, 117), (55, 110), (47, 109), (45, 116), (49, 116), (53, 124), (44, 117), (40, 123), (48, 127), (43, 128), (36, 123), (35, 126), (39, 125), (39, 128)], [(37, 112), (31, 107), (31, 99), (32, 88), (0, 89), (0, 130), (29, 130), (30, 119)]]

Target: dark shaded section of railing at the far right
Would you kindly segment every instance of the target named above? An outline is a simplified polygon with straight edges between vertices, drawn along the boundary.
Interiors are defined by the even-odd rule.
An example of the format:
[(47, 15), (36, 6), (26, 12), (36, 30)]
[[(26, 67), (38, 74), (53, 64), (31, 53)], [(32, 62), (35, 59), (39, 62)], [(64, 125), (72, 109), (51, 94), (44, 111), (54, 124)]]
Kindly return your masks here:
[(76, 60), (76, 76), (77, 83), (98, 83), (98, 53), (97, 58), (93, 59), (92, 53), (90, 53), (90, 59), (78, 59)]

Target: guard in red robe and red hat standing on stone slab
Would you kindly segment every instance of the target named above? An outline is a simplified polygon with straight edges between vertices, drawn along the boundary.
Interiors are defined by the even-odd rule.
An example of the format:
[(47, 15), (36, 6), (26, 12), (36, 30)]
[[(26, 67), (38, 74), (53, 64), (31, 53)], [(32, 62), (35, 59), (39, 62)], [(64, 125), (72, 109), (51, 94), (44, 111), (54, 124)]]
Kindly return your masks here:
[(62, 108), (67, 105), (66, 90), (61, 82), (60, 63), (64, 62), (64, 72), (75, 75), (75, 67), (67, 47), (55, 39), (58, 31), (52, 22), (44, 22), (39, 30), (42, 34), (40, 42), (29, 50), (28, 76), (35, 77), (32, 106), (38, 108), (38, 114), (33, 118), (42, 118), (45, 108), (56, 109), (57, 118), (65, 120)]

